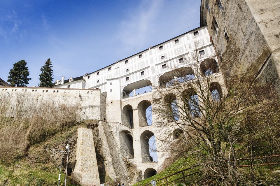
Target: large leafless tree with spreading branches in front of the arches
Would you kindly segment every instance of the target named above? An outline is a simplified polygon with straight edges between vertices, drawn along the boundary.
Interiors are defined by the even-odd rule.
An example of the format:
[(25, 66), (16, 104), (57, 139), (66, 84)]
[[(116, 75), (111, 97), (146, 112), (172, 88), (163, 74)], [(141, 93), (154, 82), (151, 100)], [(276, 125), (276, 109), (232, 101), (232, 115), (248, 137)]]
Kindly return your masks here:
[(260, 135), (270, 133), (269, 139), (279, 141), (274, 135), (279, 127), (276, 94), (249, 71), (232, 73), (224, 82), (221, 71), (227, 59), (220, 64), (215, 55), (205, 59), (201, 48), (195, 43), (193, 52), (169, 61), (171, 71), (153, 86), (160, 148), (170, 152), (173, 147), (194, 158), (202, 170), (201, 185), (248, 185), (253, 169), (248, 180), (237, 159), (254, 156), (252, 147)]

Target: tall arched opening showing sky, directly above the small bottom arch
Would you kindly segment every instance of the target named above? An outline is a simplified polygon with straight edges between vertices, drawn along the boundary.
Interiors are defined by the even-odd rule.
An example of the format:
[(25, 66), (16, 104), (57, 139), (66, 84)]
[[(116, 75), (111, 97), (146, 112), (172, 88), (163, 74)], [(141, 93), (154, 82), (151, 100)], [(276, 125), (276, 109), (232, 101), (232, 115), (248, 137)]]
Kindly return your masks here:
[(151, 131), (144, 131), (140, 136), (142, 162), (157, 161), (155, 135)]

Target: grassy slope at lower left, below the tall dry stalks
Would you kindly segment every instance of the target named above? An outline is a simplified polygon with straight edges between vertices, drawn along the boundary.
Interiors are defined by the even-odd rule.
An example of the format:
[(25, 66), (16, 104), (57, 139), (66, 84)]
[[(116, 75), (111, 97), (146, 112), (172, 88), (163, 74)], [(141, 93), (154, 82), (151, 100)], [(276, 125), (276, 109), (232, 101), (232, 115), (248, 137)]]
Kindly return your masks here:
[[(54, 164), (44, 147), (54, 148), (71, 137), (76, 129), (84, 124), (73, 126), (63, 132), (59, 132), (46, 141), (31, 145), (29, 154), (38, 157), (38, 160), (30, 157), (21, 157), (11, 164), (0, 163), (0, 185), (8, 183), (9, 186), (55, 186), (58, 185), (59, 169)], [(65, 174), (61, 174), (64, 183)], [(7, 181), (8, 180), (8, 181)], [(70, 184), (70, 181), (69, 181)]]

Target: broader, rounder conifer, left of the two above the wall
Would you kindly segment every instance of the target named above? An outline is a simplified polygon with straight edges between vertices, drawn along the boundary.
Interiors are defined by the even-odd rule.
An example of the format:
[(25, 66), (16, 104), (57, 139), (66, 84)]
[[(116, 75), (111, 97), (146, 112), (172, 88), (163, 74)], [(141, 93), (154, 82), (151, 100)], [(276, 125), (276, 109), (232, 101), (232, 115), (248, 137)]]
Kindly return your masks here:
[(24, 60), (18, 61), (13, 64), (14, 67), (10, 70), (10, 76), (8, 76), (8, 82), (11, 86), (25, 87), (29, 84), (28, 81), (31, 80), (31, 78), (28, 78), (29, 71), (26, 65), (27, 63)]

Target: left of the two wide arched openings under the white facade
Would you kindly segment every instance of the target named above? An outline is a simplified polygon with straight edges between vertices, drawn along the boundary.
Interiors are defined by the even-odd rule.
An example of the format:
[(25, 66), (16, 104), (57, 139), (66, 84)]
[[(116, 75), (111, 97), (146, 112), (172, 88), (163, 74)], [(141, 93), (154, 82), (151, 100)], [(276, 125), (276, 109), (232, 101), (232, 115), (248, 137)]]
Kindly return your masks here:
[[(144, 94), (146, 92), (151, 92), (152, 91), (152, 86), (151, 86), (150, 80), (140, 80), (134, 83), (131, 83), (127, 85), (123, 90), (122, 90), (122, 98), (127, 98), (127, 97), (132, 97), (132, 96), (137, 96), (139, 94)], [(135, 89), (135, 95), (134, 95), (134, 90)]]

